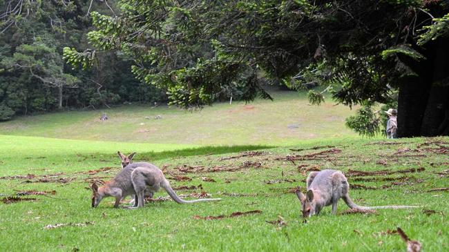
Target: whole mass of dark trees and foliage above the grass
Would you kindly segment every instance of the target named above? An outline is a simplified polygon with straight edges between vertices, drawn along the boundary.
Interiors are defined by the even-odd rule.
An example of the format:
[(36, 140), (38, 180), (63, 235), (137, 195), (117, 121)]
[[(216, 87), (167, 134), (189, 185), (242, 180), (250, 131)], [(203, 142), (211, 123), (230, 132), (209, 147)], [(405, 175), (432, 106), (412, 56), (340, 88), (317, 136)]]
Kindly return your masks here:
[(182, 108), (271, 99), (263, 79), (319, 84), (368, 114), (397, 104), (400, 137), (449, 135), (446, 0), (0, 3), (3, 117), (160, 94)]

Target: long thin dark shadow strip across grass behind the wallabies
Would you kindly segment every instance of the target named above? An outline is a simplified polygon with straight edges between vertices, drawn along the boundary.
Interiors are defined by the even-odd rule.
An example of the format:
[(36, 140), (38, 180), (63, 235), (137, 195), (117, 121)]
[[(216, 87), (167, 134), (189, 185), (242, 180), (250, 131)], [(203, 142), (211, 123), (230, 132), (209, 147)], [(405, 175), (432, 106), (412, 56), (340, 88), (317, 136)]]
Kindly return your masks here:
[(199, 148), (184, 148), (176, 151), (148, 152), (137, 153), (137, 160), (160, 160), (172, 157), (189, 157), (199, 155), (219, 155), (225, 153), (238, 153), (241, 151), (255, 151), (266, 148), (276, 148), (275, 146), (266, 145), (237, 145), (237, 146), (204, 146)]

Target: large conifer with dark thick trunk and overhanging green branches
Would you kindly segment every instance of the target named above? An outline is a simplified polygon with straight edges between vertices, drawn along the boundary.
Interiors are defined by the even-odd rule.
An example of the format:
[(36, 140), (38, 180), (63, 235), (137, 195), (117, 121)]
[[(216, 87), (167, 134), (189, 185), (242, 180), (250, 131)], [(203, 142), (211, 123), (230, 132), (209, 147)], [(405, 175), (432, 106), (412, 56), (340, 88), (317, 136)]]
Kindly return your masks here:
[[(323, 66), (322, 82), (338, 84), (333, 97), (349, 106), (386, 102), (399, 90), (400, 137), (449, 134), (448, 31), (441, 30), (448, 1), (122, 0), (120, 7), (118, 17), (93, 14), (90, 41), (132, 57), (135, 75), (167, 88), (173, 104), (210, 104), (235, 84), (247, 99), (269, 97), (257, 70), (291, 79)], [(97, 54), (65, 48), (74, 65), (86, 67)]]

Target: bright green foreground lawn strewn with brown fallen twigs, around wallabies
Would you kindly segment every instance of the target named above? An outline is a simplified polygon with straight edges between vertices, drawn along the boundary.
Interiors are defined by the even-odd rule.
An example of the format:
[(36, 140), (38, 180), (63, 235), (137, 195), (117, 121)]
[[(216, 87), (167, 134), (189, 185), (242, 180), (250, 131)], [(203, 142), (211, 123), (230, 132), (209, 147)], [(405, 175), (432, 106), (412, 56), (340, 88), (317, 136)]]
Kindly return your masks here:
[[(445, 251), (449, 245), (449, 137), (200, 148), (196, 156), (175, 145), (0, 140), (2, 199), (18, 191), (55, 191), (18, 196), (35, 201), (0, 202), (0, 251), (405, 251), (399, 235), (391, 233), (398, 226), (419, 240), (423, 251)], [(204, 192), (223, 200), (189, 205), (159, 200), (128, 210), (113, 209), (113, 199), (106, 199), (93, 209), (86, 187), (120, 171), (117, 150), (137, 151), (135, 161), (164, 167), (175, 188), (195, 186), (178, 189), (178, 194), (195, 198)], [(151, 151), (165, 153), (157, 157)], [(297, 186), (304, 190), (307, 170), (315, 168), (346, 173), (357, 204), (422, 207), (342, 215), (347, 206), (341, 201), (337, 215), (326, 208), (304, 223), (292, 192)], [(356, 176), (350, 170), (383, 174)], [(15, 175), (23, 177), (9, 177)], [(176, 180), (181, 177), (191, 180)], [(207, 179), (216, 182), (203, 181)], [(156, 195), (165, 196), (163, 191)], [(247, 211), (256, 212), (226, 217)], [(225, 217), (202, 219), (219, 215)], [(280, 217), (285, 225), (269, 223)]]

